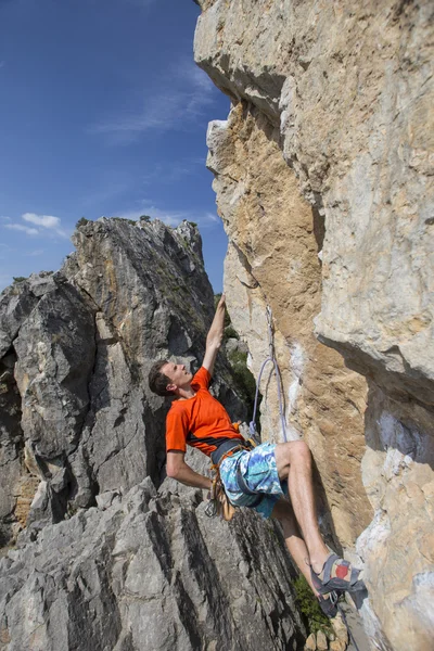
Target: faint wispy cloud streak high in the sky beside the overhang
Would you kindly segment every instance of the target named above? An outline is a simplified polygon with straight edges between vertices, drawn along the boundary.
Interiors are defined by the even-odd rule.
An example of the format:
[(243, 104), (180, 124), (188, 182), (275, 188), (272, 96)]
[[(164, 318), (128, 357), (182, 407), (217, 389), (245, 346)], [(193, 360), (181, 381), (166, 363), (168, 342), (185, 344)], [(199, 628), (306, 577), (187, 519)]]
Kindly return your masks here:
[(128, 144), (149, 130), (183, 130), (197, 119), (216, 89), (206, 74), (190, 60), (174, 66), (155, 89), (149, 89), (142, 107), (131, 108), (90, 127), (105, 135), (112, 144)]

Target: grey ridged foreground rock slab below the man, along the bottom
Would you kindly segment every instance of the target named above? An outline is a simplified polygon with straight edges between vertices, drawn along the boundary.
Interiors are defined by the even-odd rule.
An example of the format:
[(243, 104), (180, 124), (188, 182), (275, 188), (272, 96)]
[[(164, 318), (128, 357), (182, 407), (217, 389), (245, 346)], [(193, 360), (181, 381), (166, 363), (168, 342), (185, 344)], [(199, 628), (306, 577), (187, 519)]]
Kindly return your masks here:
[(202, 492), (173, 490), (148, 477), (0, 560), (0, 648), (299, 649), (278, 529), (209, 521)]

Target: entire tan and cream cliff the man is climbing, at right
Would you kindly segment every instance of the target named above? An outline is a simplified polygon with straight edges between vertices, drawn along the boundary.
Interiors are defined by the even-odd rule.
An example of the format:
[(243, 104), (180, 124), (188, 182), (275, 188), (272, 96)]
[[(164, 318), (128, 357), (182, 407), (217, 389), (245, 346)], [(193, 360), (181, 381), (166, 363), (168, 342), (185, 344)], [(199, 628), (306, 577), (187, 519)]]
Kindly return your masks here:
[(196, 62), (233, 104), (208, 131), (231, 318), (257, 371), (272, 309), (288, 434), (312, 448), (334, 542), (361, 534), (372, 643), (427, 650), (433, 4), (200, 4)]

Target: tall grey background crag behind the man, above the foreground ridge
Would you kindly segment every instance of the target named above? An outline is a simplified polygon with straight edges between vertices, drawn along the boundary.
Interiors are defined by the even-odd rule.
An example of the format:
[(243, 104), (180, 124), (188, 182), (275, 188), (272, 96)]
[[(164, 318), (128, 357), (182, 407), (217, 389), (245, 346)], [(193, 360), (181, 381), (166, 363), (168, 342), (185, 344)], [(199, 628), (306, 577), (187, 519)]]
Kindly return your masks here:
[[(159, 482), (165, 408), (149, 395), (148, 370), (167, 355), (197, 367), (213, 317), (188, 222), (173, 230), (101, 220), (81, 227), (75, 244), (61, 272), (1, 297), (3, 542), (34, 497), (37, 529), (94, 505), (99, 493), (128, 490), (146, 475)], [(218, 374), (215, 391), (243, 418), (225, 360)]]

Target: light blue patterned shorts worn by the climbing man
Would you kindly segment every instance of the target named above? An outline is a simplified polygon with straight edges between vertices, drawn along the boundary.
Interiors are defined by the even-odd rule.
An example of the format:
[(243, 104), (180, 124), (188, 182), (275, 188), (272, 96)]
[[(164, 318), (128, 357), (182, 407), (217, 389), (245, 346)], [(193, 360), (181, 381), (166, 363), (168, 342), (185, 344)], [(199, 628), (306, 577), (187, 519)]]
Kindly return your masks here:
[(220, 477), (232, 505), (250, 507), (256, 499), (256, 495), (246, 495), (240, 490), (237, 481), (240, 467), (247, 487), (264, 496), (260, 502), (252, 508), (263, 518), (270, 518), (276, 502), (288, 495), (288, 483), (279, 480), (275, 450), (275, 443), (263, 443), (253, 450), (241, 450), (221, 461)]

